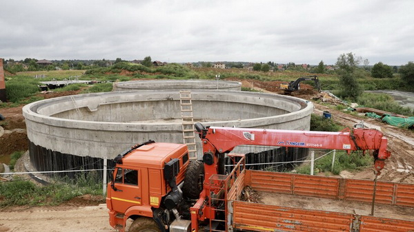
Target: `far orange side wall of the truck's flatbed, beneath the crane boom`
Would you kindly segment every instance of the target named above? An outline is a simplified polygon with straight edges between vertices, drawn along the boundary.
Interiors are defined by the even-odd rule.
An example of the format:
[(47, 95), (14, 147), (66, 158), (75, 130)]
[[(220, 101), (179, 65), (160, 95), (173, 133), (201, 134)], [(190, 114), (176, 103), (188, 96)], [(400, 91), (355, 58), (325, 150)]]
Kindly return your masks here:
[[(354, 180), (325, 176), (246, 170), (246, 185), (257, 191), (315, 196), (338, 200), (371, 202), (372, 180)], [(375, 202), (414, 207), (414, 184), (377, 182)]]

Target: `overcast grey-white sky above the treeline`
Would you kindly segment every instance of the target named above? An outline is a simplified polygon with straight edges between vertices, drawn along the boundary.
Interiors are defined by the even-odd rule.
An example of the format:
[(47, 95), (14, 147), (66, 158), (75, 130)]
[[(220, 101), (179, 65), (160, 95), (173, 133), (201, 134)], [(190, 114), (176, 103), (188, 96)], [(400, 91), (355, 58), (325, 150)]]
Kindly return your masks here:
[(414, 61), (414, 1), (1, 1), (3, 59)]

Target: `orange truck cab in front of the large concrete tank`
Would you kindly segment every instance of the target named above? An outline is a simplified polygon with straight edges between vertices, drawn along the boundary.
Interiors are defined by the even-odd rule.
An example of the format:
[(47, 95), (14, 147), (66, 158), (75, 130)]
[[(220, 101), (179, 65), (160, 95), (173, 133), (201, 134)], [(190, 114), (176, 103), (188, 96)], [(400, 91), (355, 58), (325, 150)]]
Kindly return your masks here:
[(115, 162), (106, 197), (110, 225), (124, 231), (131, 218), (129, 231), (170, 231), (177, 207), (184, 204), (187, 145), (150, 140), (119, 154)]

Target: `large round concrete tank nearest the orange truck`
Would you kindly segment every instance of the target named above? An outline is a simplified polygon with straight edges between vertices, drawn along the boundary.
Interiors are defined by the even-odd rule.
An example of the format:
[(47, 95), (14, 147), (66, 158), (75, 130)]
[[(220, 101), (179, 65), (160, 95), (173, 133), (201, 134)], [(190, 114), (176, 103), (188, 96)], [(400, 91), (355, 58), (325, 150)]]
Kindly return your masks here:
[[(194, 120), (203, 125), (299, 130), (310, 127), (313, 104), (303, 99), (199, 89), (191, 90), (191, 94)], [(99, 158), (114, 158), (132, 145), (148, 140), (183, 143), (178, 90), (51, 98), (26, 105), (23, 116), (31, 162), (41, 171), (79, 165), (96, 168), (90, 163), (99, 163)], [(197, 154), (201, 158), (199, 138), (197, 143)], [(263, 150), (260, 147), (240, 149), (237, 152)]]

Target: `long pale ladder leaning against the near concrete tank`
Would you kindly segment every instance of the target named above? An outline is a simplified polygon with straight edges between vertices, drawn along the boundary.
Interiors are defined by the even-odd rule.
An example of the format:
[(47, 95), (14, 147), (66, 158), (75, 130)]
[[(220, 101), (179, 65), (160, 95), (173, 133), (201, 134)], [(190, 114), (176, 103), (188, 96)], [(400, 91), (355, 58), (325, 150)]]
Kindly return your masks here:
[(181, 118), (183, 120), (183, 143), (188, 147), (190, 160), (197, 160), (197, 147), (195, 144), (195, 129), (193, 118), (193, 102), (191, 92), (181, 90), (179, 92), (179, 105), (181, 107)]

